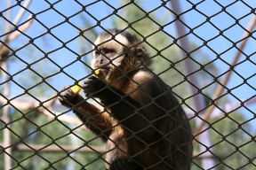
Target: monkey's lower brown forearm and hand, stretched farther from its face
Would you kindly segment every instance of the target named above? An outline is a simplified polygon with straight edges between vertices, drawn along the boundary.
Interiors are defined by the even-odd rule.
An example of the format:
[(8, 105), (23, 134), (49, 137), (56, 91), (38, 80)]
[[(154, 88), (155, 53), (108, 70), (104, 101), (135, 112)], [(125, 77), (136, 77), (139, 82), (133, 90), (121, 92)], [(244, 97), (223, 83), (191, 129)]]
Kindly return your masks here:
[[(100, 108), (86, 102), (84, 97), (81, 97), (79, 94), (73, 98), (72, 96), (73, 91), (69, 88), (64, 88), (60, 93), (60, 103), (71, 108), (87, 128), (89, 128), (94, 134), (99, 135), (103, 141), (107, 141), (108, 135), (110, 135), (111, 131), (106, 131), (106, 129), (110, 129), (110, 127), (112, 127), (108, 113), (102, 112)], [(70, 97), (72, 99), (70, 99)]]

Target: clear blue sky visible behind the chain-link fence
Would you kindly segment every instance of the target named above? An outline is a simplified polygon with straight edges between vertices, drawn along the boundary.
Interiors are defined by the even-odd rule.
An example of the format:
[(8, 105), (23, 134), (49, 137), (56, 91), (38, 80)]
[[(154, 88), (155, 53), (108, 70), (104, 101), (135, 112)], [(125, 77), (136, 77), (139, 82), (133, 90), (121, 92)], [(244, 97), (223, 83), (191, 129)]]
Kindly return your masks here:
[[(13, 2), (14, 4), (16, 4), (15, 1)], [(49, 2), (54, 4), (57, 1)], [(86, 5), (91, 4), (95, 1), (91, 0), (79, 2)], [(193, 4), (197, 4), (201, 1), (191, 2)], [(236, 44), (239, 47), (239, 41), (244, 34), (244, 28), (247, 27), (248, 23), (252, 19), (253, 14), (250, 14), (250, 12), (252, 11), (252, 8), (256, 6), (256, 1), (244, 0), (244, 3), (246, 3), (247, 5), (240, 1), (233, 4), (233, 2), (235, 2), (233, 0), (219, 0), (216, 2), (214, 2), (213, 0), (207, 0), (201, 4), (197, 4), (196, 8), (192, 9), (192, 4), (188, 3), (185, 0), (182, 0), (180, 1), (181, 11), (185, 12), (183, 14), (183, 17), (187, 26), (193, 28), (194, 34), (188, 35), (189, 41), (196, 42), (197, 46), (202, 46), (204, 42), (207, 42), (208, 47), (202, 46), (200, 48), (201, 51), (203, 51), (211, 59), (215, 59), (216, 54), (219, 54), (220, 58), (223, 58), (227, 63), (231, 63), (232, 60), (235, 58), (237, 52), (236, 48), (231, 47), (233, 46), (234, 42), (237, 42)], [(6, 7), (6, 5), (4, 5), (6, 4), (6, 2), (4, 0), (0, 0), (0, 3), (2, 4), (0, 6), (0, 10), (3, 11)], [(108, 3), (118, 8), (123, 2), (120, 1), (119, 4), (116, 3), (116, 1), (114, 0), (110, 0), (108, 1)], [(145, 0), (140, 1), (140, 3), (142, 4), (142, 8), (145, 11), (149, 12), (162, 4), (162, 1)], [(223, 7), (226, 6), (225, 12), (221, 12), (221, 5)], [(166, 4), (166, 6), (170, 7), (170, 4)], [(85, 27), (84, 23), (81, 22), (80, 16), (75, 14), (77, 12), (84, 13), (84, 15), (86, 15), (87, 17), (86, 19), (90, 19), (90, 22), (92, 24), (96, 24), (97, 21), (95, 21), (95, 19), (92, 19), (92, 17), (90, 17), (88, 14), (85, 14), (85, 12), (82, 12), (82, 6), (80, 4), (77, 4), (75, 1), (63, 0), (60, 3), (54, 4), (53, 7), (55, 10), (47, 10), (50, 8), (50, 4), (46, 3), (45, 1), (32, 1), (32, 3), (28, 7), (29, 12), (26, 12), (20, 23), (24, 22), (28, 18), (29, 13), (36, 14), (36, 19), (38, 21), (34, 21), (33, 25), (28, 29), (28, 31), (25, 32), (26, 35), (20, 35), (17, 40), (11, 42), (11, 46), (14, 49), (18, 49), (16, 52), (17, 56), (22, 58), (25, 62), (30, 64), (34, 63), (32, 65), (32, 68), (37, 69), (41, 66), (40, 63), (46, 62), (47, 66), (54, 67), (58, 72), (60, 71), (59, 66), (67, 66), (70, 62), (75, 61), (77, 56), (84, 55), (84, 53), (80, 51), (79, 43), (77, 42), (77, 40), (86, 42), (86, 40), (82, 39), (78, 35), (80, 31), (79, 28), (84, 29)], [(20, 10), (20, 7), (14, 6), (12, 9), (13, 20), (15, 16), (14, 14)], [(113, 9), (107, 4), (100, 1), (95, 4), (88, 5), (86, 7), (86, 11), (92, 13), (93, 17), (100, 20), (112, 13)], [(159, 18), (161, 18), (162, 13), (165, 12), (169, 11), (164, 7), (156, 11)], [(67, 17), (69, 23), (65, 21)], [(205, 22), (208, 17), (211, 17), (210, 22)], [(111, 18), (116, 18), (116, 16), (112, 16)], [(102, 20), (100, 22), (100, 25), (102, 27), (111, 27), (109, 24), (111, 18)], [(169, 20), (172, 19), (172, 15), (170, 15)], [(238, 23), (236, 23), (236, 19), (239, 20)], [(4, 19), (0, 18), (0, 22), (1, 24), (3, 24)], [(44, 24), (44, 26), (42, 24)], [(59, 24), (60, 26), (56, 27)], [(45, 27), (51, 28), (52, 35), (50, 33), (47, 33), (49, 29), (47, 30), (47, 28)], [(100, 31), (99, 27), (95, 27), (95, 29), (97, 31)], [(174, 25), (164, 27), (164, 30), (171, 35), (176, 35)], [(253, 30), (255, 30), (255, 28)], [(1, 27), (0, 31), (2, 35), (3, 27)], [(187, 29), (187, 31), (189, 31), (189, 29)], [(220, 31), (222, 31), (223, 35), (220, 35)], [(201, 38), (198, 38), (197, 36), (200, 36)], [(225, 36), (228, 37), (228, 39)], [(255, 33), (253, 33), (252, 36), (254, 36), (254, 39), (250, 38), (244, 49), (244, 54), (246, 55), (242, 55), (239, 60), (239, 62), (244, 62), (241, 63), (239, 66), (236, 66), (236, 73), (233, 73), (231, 80), (228, 82), (228, 89), (232, 89), (231, 93), (242, 101), (245, 101), (248, 98), (252, 97), (255, 98), (256, 96), (255, 89), (252, 89), (252, 87), (256, 87), (256, 56), (254, 54), (256, 49)], [(74, 37), (76, 37), (76, 39), (73, 40)], [(213, 37), (216, 38), (212, 39)], [(29, 42), (30, 38), (35, 39), (33, 44), (25, 45)], [(66, 43), (67, 48), (61, 48), (63, 44), (62, 42)], [(30, 53), (27, 50), (29, 46), (33, 48), (36, 46), (40, 47), (40, 49), (42, 49), (43, 51), (34, 48), (36, 52), (34, 51), (33, 56), (28, 56), (28, 54)], [(73, 51), (70, 51), (68, 49), (71, 49)], [(214, 50), (215, 52), (213, 52), (212, 50)], [(52, 64), (49, 59), (44, 58), (45, 54), (48, 55), (48, 58), (51, 58), (54, 62), (58, 63), (58, 66)], [(91, 55), (86, 56), (86, 58), (90, 57)], [(246, 57), (250, 57), (251, 61), (246, 60)], [(40, 60), (41, 58), (43, 59)], [(35, 63), (35, 59), (38, 59), (38, 62)], [(220, 74), (225, 73), (229, 69), (227, 63), (221, 61), (220, 59), (214, 61), (215, 66), (218, 66), (218, 68), (220, 69)], [(18, 77), (20, 75), (26, 76), (26, 73), (30, 72), (28, 70), (20, 72), (20, 70), (22, 70), (26, 66), (27, 64), (20, 60), (16, 60), (15, 64), (12, 63), (10, 65), (10, 73), (17, 73), (17, 76), (16, 74), (15, 76), (13, 76), (15, 81), (19, 81)], [(84, 64), (82, 62), (76, 62), (76, 64), (64, 68), (64, 71), (69, 75), (73, 76), (76, 80), (83, 79), (85, 74)], [(44, 74), (45, 76), (48, 76), (53, 73), (50, 70), (48, 72), (47, 70), (45, 70)], [(223, 77), (224, 76), (221, 76), (220, 80)], [(241, 77), (248, 79), (247, 82), (252, 87), (250, 87), (250, 85), (246, 83), (244, 84), (244, 80)], [(67, 74), (64, 73), (54, 75), (54, 79), (58, 80), (52, 84), (52, 86), (56, 89), (61, 89), (63, 86), (74, 83), (74, 80), (69, 78)], [(241, 86), (236, 88), (240, 84)], [(15, 85), (15, 83), (12, 83), (12, 88), (15, 89), (12, 91), (12, 96), (17, 96), (24, 91), (23, 89), (20, 89), (17, 85)], [(54, 92), (54, 90), (52, 90), (51, 92)], [(231, 102), (235, 103), (238, 102), (236, 97), (228, 95), (228, 99)], [(256, 104), (250, 104), (248, 105), (248, 108), (255, 112)], [(248, 119), (251, 119), (253, 117), (252, 112), (247, 111), (246, 109), (242, 109), (242, 111)], [(254, 120), (254, 122), (255, 121), (256, 120)]]

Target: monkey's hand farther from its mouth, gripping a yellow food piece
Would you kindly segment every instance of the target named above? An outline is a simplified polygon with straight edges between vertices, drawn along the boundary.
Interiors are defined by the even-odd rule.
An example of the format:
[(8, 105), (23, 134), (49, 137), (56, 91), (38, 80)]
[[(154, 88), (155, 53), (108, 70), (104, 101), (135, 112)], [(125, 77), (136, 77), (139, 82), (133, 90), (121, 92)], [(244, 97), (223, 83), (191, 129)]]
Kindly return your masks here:
[(84, 100), (79, 94), (74, 96), (74, 91), (70, 89), (71, 86), (61, 89), (60, 96), (58, 97), (60, 104), (66, 107), (72, 107), (75, 104)]

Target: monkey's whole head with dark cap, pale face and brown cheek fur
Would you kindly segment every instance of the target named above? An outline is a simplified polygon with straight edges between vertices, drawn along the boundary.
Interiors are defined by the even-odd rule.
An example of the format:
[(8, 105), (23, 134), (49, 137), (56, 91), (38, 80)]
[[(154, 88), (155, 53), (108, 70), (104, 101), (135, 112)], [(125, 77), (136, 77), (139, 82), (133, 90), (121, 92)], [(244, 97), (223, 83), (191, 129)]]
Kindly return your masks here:
[[(100, 78), (115, 81), (152, 63), (136, 35), (118, 29), (100, 33), (94, 42), (92, 68), (100, 68)], [(129, 75), (128, 75), (129, 76)]]

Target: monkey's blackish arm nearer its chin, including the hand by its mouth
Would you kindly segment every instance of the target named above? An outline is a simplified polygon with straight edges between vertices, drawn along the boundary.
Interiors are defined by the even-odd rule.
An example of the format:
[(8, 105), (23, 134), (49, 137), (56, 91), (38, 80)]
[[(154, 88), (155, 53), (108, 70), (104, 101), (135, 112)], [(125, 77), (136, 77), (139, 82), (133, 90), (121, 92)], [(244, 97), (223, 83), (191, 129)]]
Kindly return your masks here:
[(142, 107), (132, 97), (112, 86), (107, 86), (104, 81), (95, 77), (84, 81), (83, 89), (87, 96), (99, 97), (101, 104), (108, 107), (113, 116), (132, 134), (146, 143), (156, 140), (156, 129), (152, 127), (154, 123), (150, 123), (150, 120), (155, 119), (155, 113), (150, 115), (148, 107)]

